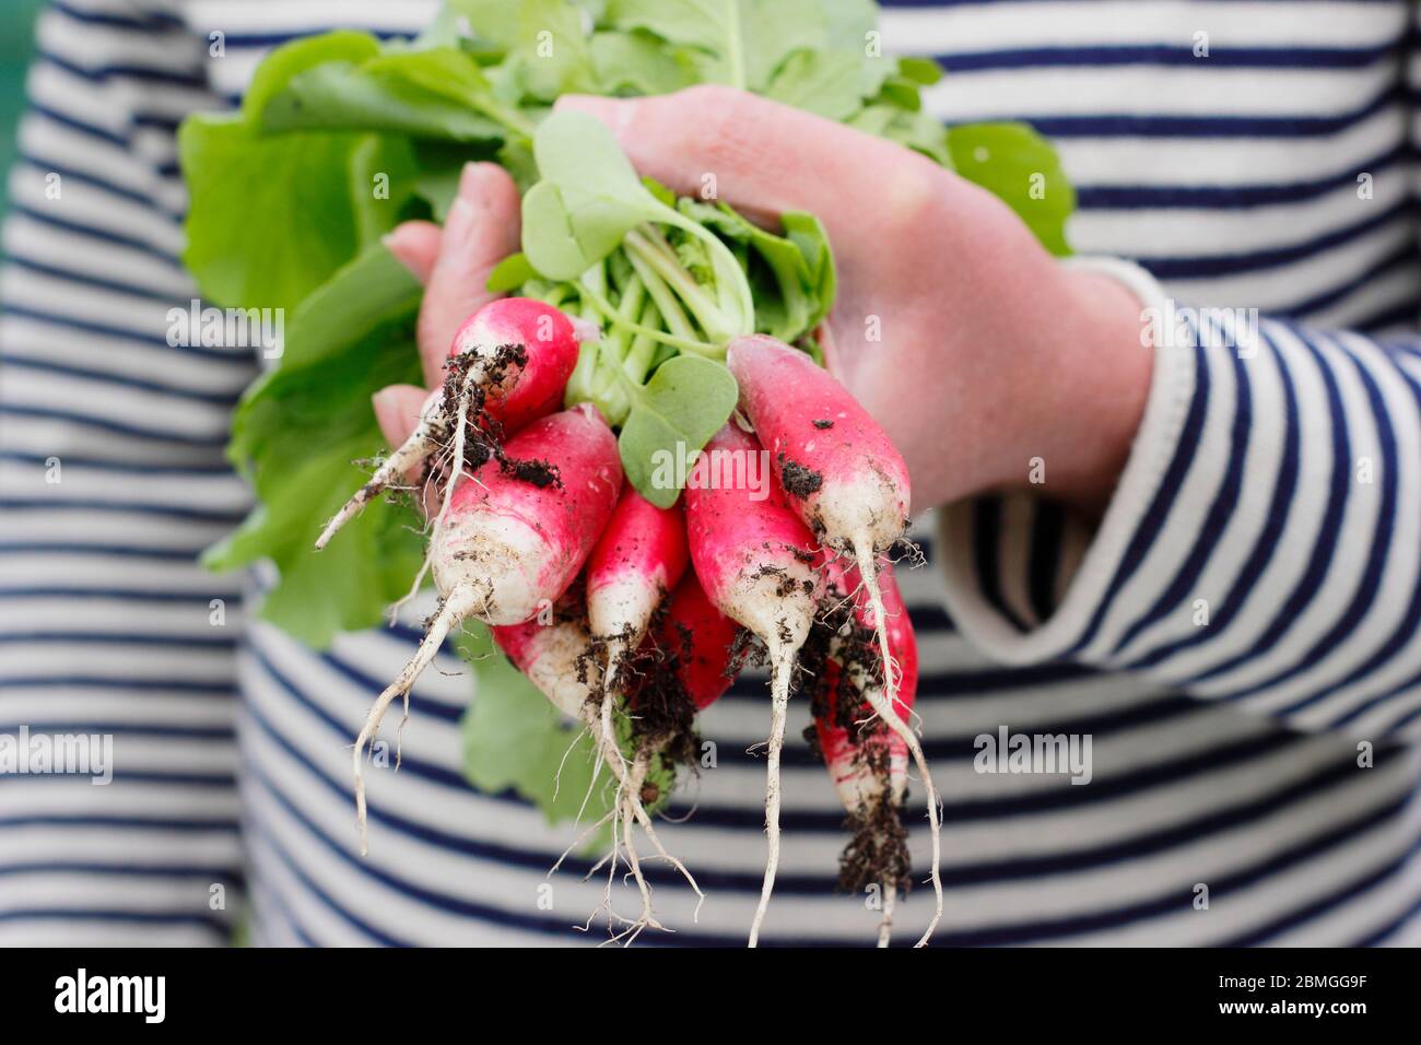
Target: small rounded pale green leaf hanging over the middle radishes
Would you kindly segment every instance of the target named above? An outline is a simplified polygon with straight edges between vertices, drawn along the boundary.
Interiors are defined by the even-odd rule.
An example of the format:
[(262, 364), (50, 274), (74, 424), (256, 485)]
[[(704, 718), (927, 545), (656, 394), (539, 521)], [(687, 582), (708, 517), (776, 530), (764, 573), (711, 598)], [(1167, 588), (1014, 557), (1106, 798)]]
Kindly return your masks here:
[(627, 479), (658, 508), (681, 495), (681, 476), (730, 418), (740, 390), (723, 364), (699, 355), (664, 363), (632, 398), (618, 446)]

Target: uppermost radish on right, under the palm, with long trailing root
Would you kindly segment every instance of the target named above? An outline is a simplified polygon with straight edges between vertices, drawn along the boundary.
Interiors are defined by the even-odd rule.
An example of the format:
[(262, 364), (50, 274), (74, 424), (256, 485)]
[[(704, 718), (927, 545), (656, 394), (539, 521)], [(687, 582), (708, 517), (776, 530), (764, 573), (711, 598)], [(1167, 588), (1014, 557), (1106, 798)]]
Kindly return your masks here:
[(932, 890), (942, 917), (938, 793), (918, 736), (891, 712), (898, 667), (878, 586), (878, 556), (908, 529), (908, 466), (888, 435), (848, 391), (809, 355), (770, 337), (730, 343), (726, 365), (740, 385), (749, 415), (790, 506), (823, 545), (858, 566), (882, 658), (882, 691), (865, 691), (872, 709), (902, 738), (918, 763), (932, 827)]

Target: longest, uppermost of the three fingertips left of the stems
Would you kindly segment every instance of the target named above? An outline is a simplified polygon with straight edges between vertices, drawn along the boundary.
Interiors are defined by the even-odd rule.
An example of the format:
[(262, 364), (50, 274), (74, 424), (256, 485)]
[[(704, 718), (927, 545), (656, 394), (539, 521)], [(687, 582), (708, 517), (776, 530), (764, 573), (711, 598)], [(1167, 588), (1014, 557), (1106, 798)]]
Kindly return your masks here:
[(419, 358), (431, 387), (443, 380), (443, 361), (455, 331), (496, 297), (485, 284), (493, 266), (519, 249), (519, 206), (517, 186), (503, 168), (496, 164), (463, 168), (419, 310)]

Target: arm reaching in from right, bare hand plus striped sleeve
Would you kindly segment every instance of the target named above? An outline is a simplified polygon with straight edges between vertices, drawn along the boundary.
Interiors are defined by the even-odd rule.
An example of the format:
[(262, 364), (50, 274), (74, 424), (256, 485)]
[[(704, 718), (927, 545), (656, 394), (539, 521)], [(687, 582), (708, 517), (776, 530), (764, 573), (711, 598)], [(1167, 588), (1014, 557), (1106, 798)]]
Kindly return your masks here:
[(1270, 321), (1155, 337), (1172, 313), (1148, 274), (1060, 264), (980, 189), (763, 100), (563, 104), (678, 189), (713, 172), (736, 206), (826, 220), (830, 365), (898, 442), (915, 508), (951, 505), (949, 609), (985, 651), (1303, 728), (1417, 721), (1421, 357)]

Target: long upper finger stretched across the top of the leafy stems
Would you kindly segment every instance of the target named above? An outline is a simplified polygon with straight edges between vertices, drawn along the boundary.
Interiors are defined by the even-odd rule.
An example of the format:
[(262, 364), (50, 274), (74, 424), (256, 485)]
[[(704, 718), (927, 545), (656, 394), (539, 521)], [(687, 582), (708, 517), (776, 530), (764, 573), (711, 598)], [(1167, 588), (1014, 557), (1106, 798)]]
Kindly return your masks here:
[(601, 119), (641, 173), (675, 192), (713, 195), (756, 218), (810, 210), (831, 225), (836, 247), (881, 240), (885, 208), (918, 206), (944, 191), (944, 172), (925, 156), (729, 87), (567, 95), (557, 108)]

